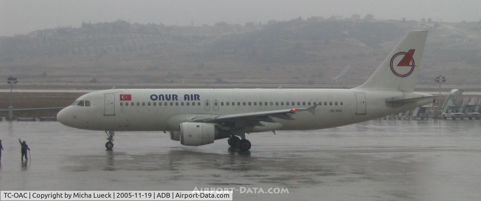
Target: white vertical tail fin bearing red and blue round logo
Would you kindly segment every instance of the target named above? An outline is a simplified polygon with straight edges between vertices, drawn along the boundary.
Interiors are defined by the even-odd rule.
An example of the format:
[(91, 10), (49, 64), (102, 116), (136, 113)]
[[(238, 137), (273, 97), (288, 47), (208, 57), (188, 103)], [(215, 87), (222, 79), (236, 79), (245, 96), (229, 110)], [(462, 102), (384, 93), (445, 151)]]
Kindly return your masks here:
[(427, 30), (407, 32), (369, 80), (354, 89), (414, 91), (427, 35)]

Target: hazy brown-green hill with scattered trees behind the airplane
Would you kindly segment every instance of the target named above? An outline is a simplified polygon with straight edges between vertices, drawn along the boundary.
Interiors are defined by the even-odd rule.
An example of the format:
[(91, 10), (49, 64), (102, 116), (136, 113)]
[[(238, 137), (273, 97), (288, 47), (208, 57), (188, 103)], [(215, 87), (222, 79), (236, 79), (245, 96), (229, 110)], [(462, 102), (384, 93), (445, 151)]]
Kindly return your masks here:
[[(82, 23), (0, 37), (23, 82), (359, 84), (408, 30), (427, 29), (418, 84), (481, 84), (481, 24), (301, 18), (245, 25)], [(95, 79), (94, 79), (95, 78)]]

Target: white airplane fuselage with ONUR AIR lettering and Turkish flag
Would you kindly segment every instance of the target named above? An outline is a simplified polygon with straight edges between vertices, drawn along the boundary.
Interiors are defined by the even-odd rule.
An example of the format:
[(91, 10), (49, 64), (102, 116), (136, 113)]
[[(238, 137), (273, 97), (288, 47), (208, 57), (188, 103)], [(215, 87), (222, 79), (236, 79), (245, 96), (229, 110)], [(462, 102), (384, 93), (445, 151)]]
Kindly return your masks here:
[[(121, 100), (120, 95), (131, 95), (131, 100)], [(90, 106), (68, 106), (57, 117), (67, 126), (87, 130), (176, 131), (179, 123), (192, 118), (316, 104), (315, 114), (298, 111), (291, 115), (294, 120), (274, 117), (278, 123), (263, 122), (266, 126), (248, 132), (316, 130), (380, 118), (432, 102), (422, 100), (398, 107), (386, 104), (387, 99), (422, 96), (430, 95), (357, 89), (112, 89), (79, 97), (77, 100), (89, 101)]]

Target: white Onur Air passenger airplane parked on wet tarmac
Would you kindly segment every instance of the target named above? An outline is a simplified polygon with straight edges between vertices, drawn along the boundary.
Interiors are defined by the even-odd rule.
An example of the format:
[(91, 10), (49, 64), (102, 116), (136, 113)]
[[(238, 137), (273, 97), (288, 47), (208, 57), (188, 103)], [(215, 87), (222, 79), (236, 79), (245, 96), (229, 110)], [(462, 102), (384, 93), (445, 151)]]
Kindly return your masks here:
[(115, 131), (168, 131), (187, 146), (228, 138), (228, 145), (249, 150), (246, 133), (339, 127), (434, 102), (440, 96), (413, 92), (427, 32), (409, 31), (352, 89), (110, 89), (80, 96), (57, 119), (105, 131), (108, 150)]

